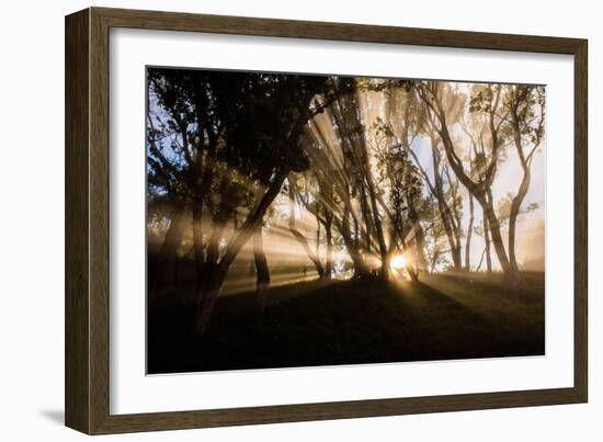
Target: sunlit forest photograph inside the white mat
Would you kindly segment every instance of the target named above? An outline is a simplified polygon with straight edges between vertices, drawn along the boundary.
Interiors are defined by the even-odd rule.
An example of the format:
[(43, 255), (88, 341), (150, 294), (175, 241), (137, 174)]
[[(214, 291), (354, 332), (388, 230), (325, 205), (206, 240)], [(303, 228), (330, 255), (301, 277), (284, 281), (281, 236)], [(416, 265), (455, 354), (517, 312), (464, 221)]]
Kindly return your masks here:
[(148, 375), (545, 355), (545, 84), (143, 87)]

